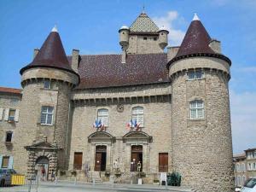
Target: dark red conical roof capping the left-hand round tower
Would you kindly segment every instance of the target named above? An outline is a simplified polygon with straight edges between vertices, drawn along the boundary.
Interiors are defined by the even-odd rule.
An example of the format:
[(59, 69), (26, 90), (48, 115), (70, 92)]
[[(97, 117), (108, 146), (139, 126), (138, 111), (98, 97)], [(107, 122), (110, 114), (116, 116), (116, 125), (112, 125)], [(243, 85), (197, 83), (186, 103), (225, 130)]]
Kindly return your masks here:
[(20, 74), (32, 67), (58, 68), (75, 73), (67, 61), (67, 55), (56, 27), (49, 33), (34, 60), (26, 67), (20, 69)]

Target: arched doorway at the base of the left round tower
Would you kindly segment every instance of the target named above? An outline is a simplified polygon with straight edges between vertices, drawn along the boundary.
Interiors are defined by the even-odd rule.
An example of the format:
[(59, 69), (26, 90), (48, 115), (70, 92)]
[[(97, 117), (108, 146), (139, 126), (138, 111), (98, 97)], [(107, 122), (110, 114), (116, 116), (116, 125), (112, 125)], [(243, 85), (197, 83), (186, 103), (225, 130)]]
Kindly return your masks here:
[(36, 160), (36, 171), (40, 180), (47, 181), (49, 173), (49, 159), (45, 156), (38, 157)]

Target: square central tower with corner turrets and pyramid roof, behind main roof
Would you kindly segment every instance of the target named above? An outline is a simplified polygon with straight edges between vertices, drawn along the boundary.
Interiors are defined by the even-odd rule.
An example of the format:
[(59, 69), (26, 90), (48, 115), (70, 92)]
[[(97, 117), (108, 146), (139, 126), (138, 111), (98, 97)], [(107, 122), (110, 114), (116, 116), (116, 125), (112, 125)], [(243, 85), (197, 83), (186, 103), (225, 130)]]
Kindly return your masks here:
[[(120, 45), (125, 54), (163, 53), (168, 44), (168, 31), (154, 24), (146, 13), (141, 13), (130, 27), (119, 29)], [(122, 62), (124, 62), (122, 60)]]

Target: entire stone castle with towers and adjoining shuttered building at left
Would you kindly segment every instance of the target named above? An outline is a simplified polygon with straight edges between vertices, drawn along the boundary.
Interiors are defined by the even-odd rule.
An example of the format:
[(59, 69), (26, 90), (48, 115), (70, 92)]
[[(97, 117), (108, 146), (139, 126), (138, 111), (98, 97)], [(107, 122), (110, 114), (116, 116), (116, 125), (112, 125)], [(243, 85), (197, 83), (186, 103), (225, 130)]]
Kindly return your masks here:
[(22, 90), (0, 89), (1, 166), (119, 183), (175, 171), (182, 186), (233, 191), (231, 61), (197, 15), (180, 46), (167, 35), (142, 13), (119, 29), (121, 54), (69, 56), (54, 27)]

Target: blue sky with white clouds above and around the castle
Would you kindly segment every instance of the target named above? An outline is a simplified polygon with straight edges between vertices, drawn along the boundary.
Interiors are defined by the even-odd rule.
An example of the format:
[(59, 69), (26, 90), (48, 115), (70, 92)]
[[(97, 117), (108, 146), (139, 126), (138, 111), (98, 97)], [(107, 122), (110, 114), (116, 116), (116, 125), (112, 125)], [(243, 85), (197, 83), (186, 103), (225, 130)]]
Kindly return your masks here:
[(194, 12), (232, 60), (230, 108), (234, 153), (256, 147), (256, 1), (254, 0), (0, 0), (0, 86), (20, 88), (21, 67), (32, 61), (56, 24), (67, 55), (120, 53), (119, 27), (142, 12), (181, 43)]

